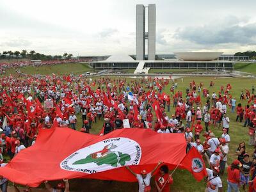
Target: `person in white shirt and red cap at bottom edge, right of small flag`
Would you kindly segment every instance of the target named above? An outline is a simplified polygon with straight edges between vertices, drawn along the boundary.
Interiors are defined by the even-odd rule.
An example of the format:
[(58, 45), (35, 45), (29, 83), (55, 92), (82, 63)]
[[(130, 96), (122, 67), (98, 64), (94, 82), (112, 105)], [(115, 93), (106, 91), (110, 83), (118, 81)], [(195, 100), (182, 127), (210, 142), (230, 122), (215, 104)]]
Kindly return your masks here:
[(214, 168), (212, 168), (212, 170), (210, 170), (209, 168), (206, 168), (206, 172), (207, 172), (207, 187), (205, 189), (205, 192), (222, 192), (223, 191), (223, 187), (222, 187), (222, 181), (219, 177), (219, 172), (220, 169), (215, 166)]

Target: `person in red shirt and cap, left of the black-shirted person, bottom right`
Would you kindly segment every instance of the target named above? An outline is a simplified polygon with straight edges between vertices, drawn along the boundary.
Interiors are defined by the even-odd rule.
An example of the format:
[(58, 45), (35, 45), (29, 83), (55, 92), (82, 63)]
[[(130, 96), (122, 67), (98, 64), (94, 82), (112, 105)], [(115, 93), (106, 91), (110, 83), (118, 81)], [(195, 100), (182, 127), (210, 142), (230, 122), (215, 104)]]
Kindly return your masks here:
[(240, 183), (240, 168), (242, 164), (237, 159), (233, 161), (230, 166), (227, 168), (228, 173), (228, 189), (227, 192), (231, 192), (234, 190), (235, 192), (239, 191), (239, 183)]

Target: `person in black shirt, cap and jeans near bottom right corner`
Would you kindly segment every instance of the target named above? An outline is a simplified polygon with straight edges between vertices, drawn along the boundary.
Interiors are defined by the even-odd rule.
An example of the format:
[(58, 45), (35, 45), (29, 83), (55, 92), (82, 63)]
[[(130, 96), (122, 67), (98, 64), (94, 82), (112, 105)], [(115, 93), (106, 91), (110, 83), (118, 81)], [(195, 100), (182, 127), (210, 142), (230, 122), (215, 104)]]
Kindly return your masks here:
[(252, 166), (252, 161), (250, 161), (249, 154), (244, 154), (243, 159), (241, 160), (241, 164), (240, 184), (245, 190), (246, 185), (248, 185), (248, 181), (250, 179), (250, 168)]

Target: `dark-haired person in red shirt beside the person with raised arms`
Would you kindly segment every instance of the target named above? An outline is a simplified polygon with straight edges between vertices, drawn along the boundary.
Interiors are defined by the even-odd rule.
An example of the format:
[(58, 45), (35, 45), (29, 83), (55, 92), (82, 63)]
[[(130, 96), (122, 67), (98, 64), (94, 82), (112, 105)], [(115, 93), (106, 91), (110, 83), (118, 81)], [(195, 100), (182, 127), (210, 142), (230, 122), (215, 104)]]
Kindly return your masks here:
[(155, 184), (158, 192), (169, 192), (170, 185), (173, 184), (172, 175), (169, 174), (167, 165), (160, 167), (159, 173), (155, 176)]

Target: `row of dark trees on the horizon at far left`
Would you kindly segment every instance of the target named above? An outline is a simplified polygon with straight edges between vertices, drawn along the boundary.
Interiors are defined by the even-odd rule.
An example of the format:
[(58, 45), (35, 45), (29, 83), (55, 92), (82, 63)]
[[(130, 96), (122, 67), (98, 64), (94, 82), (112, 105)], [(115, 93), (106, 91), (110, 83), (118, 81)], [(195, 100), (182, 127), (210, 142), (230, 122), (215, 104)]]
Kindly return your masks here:
[(27, 50), (22, 50), (22, 51), (3, 51), (0, 52), (0, 59), (8, 59), (10, 60), (11, 58), (28, 58), (30, 60), (61, 60), (61, 59), (71, 59), (72, 58), (72, 54), (71, 53), (67, 53), (65, 52), (63, 54), (63, 56), (61, 55), (55, 55), (55, 56), (51, 56), (51, 55), (45, 55), (45, 54), (41, 54), (39, 52), (35, 52), (33, 50), (31, 51), (27, 51)]

